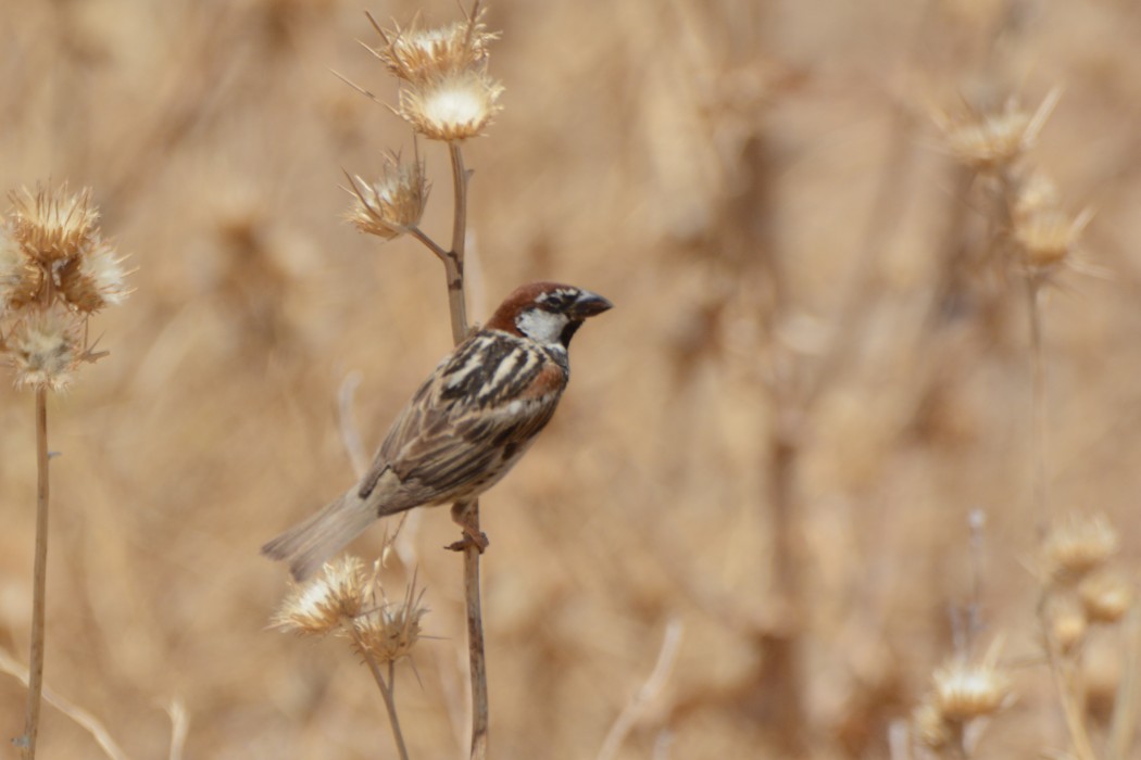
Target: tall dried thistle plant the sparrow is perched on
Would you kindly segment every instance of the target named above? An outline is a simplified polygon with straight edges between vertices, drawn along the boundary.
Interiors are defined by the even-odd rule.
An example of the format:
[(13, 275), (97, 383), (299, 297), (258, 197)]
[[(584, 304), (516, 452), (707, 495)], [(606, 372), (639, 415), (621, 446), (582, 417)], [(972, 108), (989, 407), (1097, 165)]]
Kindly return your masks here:
[[(453, 190), (451, 246), (444, 247), (420, 229), (430, 185), (419, 154), (411, 162), (402, 161), (395, 153), (386, 154), (380, 178), (374, 182), (349, 177), (354, 196), (347, 213), (350, 223), (383, 240), (410, 235), (444, 264), (452, 338), (456, 344), (469, 332), (463, 260), (470, 172), (463, 164), (462, 145), (482, 136), (502, 108), (499, 99), (503, 87), (488, 73), (489, 43), (499, 34), (487, 31), (484, 15), (479, 0), (475, 0), (463, 21), (440, 26), (427, 26), (418, 18), (405, 27), (394, 23), (393, 28), (383, 28), (369, 15), (381, 44), (365, 47), (399, 84), (397, 106), (393, 111), (408, 122), (416, 134), (447, 144)], [(477, 500), (453, 505), (452, 515), (467, 526), (466, 537), (469, 530), (472, 534), (479, 533)], [(489, 719), (479, 587), (483, 547), (464, 538), (451, 548), (463, 551), (472, 702), (470, 757), (485, 758)], [(419, 635), (419, 616), (390, 614), (391, 610), (412, 608), (410, 603), (411, 597), (403, 607), (380, 605), (371, 615), (359, 619), (356, 636), (362, 654), (381, 659), (395, 656), (414, 643)]]

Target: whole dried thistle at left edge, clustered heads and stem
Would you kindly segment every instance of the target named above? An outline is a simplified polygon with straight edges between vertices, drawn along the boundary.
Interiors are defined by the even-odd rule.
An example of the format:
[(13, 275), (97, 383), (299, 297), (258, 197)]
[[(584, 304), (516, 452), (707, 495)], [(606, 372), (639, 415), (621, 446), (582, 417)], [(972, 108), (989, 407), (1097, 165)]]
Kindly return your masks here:
[(47, 393), (63, 391), (84, 362), (95, 361), (88, 320), (129, 294), (123, 259), (104, 239), (89, 190), (26, 188), (9, 196), (0, 222), (0, 354), (16, 384), (35, 391), (37, 490), (35, 567), (27, 718), (17, 741), (23, 757), (35, 757), (43, 687), (43, 613), (48, 553)]

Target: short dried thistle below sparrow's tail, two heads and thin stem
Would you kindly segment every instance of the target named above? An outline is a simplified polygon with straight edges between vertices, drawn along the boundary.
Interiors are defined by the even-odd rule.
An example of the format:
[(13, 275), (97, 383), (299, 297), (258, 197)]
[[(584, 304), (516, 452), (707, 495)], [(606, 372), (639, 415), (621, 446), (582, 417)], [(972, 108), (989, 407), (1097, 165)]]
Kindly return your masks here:
[(385, 700), (397, 752), (407, 760), (396, 710), (396, 663), (411, 656), (420, 640), (420, 620), (427, 612), (415, 577), (403, 600), (394, 603), (385, 594), (380, 563), (366, 571), (359, 558), (347, 555), (326, 564), (314, 580), (296, 587), (277, 608), (273, 624), (301, 636), (332, 634), (349, 640), (353, 651), (372, 671)]

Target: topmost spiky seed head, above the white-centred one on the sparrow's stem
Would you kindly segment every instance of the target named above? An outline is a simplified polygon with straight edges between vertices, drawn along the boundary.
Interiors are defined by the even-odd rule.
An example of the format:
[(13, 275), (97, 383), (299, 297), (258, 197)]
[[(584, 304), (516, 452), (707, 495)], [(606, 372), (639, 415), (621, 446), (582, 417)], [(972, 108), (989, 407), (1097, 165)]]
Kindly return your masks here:
[(378, 26), (385, 44), (369, 49), (397, 79), (423, 82), (480, 66), (487, 60), (487, 43), (499, 35), (487, 31), (483, 18), (480, 10), (468, 21), (436, 28), (421, 28), (416, 22), (407, 28)]

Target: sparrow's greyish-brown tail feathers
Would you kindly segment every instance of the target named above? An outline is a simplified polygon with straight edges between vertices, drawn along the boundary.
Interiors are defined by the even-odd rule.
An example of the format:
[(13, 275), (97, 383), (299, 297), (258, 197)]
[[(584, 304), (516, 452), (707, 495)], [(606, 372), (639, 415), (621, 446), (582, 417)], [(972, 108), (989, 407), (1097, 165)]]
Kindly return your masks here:
[(374, 520), (375, 508), (353, 489), (266, 544), (261, 554), (270, 559), (288, 562), (293, 578), (301, 581), (363, 533)]

